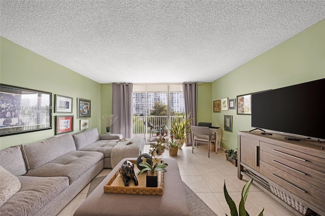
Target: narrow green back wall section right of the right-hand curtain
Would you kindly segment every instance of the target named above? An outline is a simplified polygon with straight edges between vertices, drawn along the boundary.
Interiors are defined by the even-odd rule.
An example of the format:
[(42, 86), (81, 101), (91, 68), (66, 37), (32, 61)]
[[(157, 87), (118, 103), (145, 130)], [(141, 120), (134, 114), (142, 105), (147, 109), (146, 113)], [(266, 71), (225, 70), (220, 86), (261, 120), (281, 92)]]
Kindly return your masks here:
[[(198, 84), (198, 119), (199, 122), (211, 122), (212, 100), (211, 83)], [(214, 126), (214, 125), (213, 125)]]

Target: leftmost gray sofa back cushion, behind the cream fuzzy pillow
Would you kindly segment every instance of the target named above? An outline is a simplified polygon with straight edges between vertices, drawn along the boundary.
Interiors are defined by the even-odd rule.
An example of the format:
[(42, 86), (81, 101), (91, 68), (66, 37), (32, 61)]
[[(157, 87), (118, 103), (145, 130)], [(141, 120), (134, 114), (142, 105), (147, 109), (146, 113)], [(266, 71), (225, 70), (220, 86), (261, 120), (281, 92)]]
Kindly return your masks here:
[(0, 158), (0, 165), (12, 174), (18, 176), (27, 172), (21, 146), (9, 147), (0, 151)]

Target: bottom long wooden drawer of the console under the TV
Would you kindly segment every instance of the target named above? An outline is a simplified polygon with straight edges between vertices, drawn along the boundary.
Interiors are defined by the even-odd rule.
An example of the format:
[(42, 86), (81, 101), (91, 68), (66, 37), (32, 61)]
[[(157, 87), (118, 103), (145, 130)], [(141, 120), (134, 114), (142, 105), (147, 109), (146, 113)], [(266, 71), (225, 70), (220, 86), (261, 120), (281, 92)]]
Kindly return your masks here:
[(274, 183), (278, 184), (282, 188), (290, 193), (297, 195), (301, 200), (305, 200), (308, 203), (313, 203), (322, 211), (325, 211), (324, 197), (325, 190), (318, 188), (294, 175), (291, 175), (281, 169), (278, 169), (264, 161), (260, 161), (259, 172), (269, 178)]

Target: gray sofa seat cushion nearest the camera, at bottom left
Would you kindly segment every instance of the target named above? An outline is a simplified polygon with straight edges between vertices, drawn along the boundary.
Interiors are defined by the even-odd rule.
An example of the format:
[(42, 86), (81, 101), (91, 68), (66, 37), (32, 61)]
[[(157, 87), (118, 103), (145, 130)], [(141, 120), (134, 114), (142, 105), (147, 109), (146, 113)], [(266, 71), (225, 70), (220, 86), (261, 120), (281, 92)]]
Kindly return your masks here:
[(0, 214), (35, 215), (40, 208), (69, 186), (67, 177), (18, 176), (18, 178), (21, 188), (1, 206)]

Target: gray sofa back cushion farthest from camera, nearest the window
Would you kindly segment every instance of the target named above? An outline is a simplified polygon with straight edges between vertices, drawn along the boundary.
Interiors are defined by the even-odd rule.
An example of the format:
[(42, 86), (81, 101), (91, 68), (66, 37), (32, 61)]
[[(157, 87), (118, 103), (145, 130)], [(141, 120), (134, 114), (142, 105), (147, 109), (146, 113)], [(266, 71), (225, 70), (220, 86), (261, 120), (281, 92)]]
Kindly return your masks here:
[(75, 139), (75, 145), (77, 150), (80, 150), (86, 146), (89, 146), (91, 143), (100, 139), (97, 128), (87, 130), (85, 132), (77, 133), (73, 135)]

